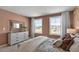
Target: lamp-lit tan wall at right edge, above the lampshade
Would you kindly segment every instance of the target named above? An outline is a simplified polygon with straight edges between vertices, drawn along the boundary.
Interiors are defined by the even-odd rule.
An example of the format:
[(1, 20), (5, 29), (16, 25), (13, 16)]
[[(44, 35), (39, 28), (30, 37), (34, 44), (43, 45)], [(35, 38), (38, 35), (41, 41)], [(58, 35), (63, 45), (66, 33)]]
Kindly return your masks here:
[(71, 13), (72, 28), (79, 29), (79, 7), (76, 7)]

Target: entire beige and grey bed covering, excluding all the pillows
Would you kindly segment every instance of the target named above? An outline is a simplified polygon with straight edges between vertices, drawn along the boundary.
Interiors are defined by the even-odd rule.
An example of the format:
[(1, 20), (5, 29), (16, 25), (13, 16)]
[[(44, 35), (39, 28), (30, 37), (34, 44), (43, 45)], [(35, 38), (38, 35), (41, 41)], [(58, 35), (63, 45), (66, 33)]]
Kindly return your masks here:
[(63, 49), (53, 46), (55, 39), (44, 36), (35, 37), (20, 44), (19, 51), (26, 52), (64, 52)]

